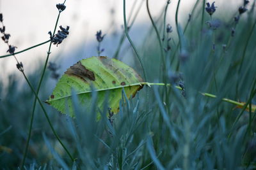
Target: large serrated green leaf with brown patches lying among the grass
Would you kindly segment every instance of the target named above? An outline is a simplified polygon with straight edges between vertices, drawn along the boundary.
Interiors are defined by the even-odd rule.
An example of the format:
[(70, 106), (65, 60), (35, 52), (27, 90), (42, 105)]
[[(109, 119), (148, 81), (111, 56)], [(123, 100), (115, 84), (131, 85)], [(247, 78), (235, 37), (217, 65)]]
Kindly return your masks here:
[(109, 107), (114, 113), (118, 113), (122, 89), (124, 88), (128, 97), (134, 97), (143, 88), (142, 81), (134, 69), (119, 60), (103, 56), (90, 57), (67, 69), (46, 103), (61, 113), (65, 113), (68, 108), (69, 115), (74, 117), (72, 89), (76, 91), (79, 106), (91, 108), (93, 87), (98, 92), (97, 107), (102, 109), (106, 92), (109, 92)]

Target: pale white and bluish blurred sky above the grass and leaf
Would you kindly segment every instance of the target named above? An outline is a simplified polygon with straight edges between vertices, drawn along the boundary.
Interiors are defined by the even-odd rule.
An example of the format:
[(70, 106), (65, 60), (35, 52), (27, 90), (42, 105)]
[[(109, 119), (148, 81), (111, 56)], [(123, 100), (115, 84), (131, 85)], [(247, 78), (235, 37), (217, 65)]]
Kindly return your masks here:
[[(179, 12), (180, 24), (184, 24), (188, 20), (188, 15), (191, 13), (191, 8), (193, 8), (195, 2), (195, 0), (181, 1)], [(0, 0), (0, 13), (3, 13), (6, 32), (11, 34), (10, 43), (17, 46), (16, 52), (49, 39), (47, 32), (53, 30), (58, 15), (57, 3), (63, 2), (56, 0)], [(60, 46), (52, 48), (50, 61), (57, 60), (57, 58), (60, 59), (61, 72), (63, 72), (70, 64), (75, 63), (77, 60), (97, 55), (95, 34), (99, 30), (106, 34), (102, 42), (102, 48), (104, 48), (102, 55), (113, 57), (120, 36), (122, 36), (124, 31), (122, 4), (123, 2), (118, 0), (67, 0), (67, 8), (61, 13), (58, 26), (63, 25), (65, 27), (69, 25), (70, 34)], [(150, 10), (155, 20), (163, 13), (165, 4), (165, 0), (149, 1)], [(228, 10), (232, 10), (232, 8), (236, 9), (241, 2), (216, 0), (216, 4), (218, 4), (216, 15), (220, 15), (225, 10), (225, 6), (228, 6)], [(171, 1), (166, 18), (166, 23), (173, 26), (173, 32), (176, 32), (174, 26), (176, 6), (177, 1)], [(151, 28), (146, 4), (144, 0), (127, 1), (127, 18), (131, 17), (132, 20), (137, 10), (138, 16), (131, 28), (130, 34), (136, 45), (141, 45), (145, 34)], [(227, 18), (229, 17), (228, 15), (231, 16), (232, 13), (226, 14)], [(127, 45), (128, 43), (125, 43), (122, 49), (127, 48)], [(26, 72), (31, 72), (35, 70), (39, 63), (42, 64), (41, 61), (46, 57), (47, 48), (48, 45), (45, 44), (17, 55), (24, 64)], [(6, 45), (1, 42), (0, 54), (6, 54), (6, 49)], [(131, 53), (128, 52), (129, 50), (121, 50), (120, 57), (129, 60)], [(13, 57), (1, 59), (0, 66), (1, 78), (6, 78), (8, 73), (14, 72), (19, 74)]]

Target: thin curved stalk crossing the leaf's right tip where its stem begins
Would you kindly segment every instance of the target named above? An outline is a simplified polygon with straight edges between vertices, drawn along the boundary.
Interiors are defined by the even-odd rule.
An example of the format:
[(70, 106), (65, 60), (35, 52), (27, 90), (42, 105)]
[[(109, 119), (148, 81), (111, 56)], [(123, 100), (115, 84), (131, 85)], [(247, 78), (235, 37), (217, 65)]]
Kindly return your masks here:
[[(140, 65), (141, 65), (141, 68), (142, 68), (142, 71), (143, 71), (143, 76), (144, 76), (144, 78), (145, 78), (145, 81), (147, 81), (147, 80), (148, 80), (148, 77), (147, 77), (147, 73), (146, 73), (146, 71), (145, 71), (145, 69), (144, 69), (143, 62), (142, 62), (142, 60), (141, 60), (141, 57), (140, 57), (140, 55), (139, 55), (139, 53), (138, 53), (138, 50), (136, 49), (136, 47), (135, 47), (134, 44), (132, 43), (132, 40), (131, 40), (131, 38), (130, 38), (130, 36), (129, 36), (129, 34), (128, 34), (128, 28), (127, 28), (127, 22), (126, 22), (126, 14), (125, 14), (125, 0), (124, 0), (124, 31), (125, 31), (125, 35), (126, 35), (127, 39), (129, 40), (129, 42), (130, 42), (130, 44), (131, 44), (131, 46), (132, 46), (134, 52), (136, 53), (136, 56), (137, 56), (138, 60), (139, 60), (139, 62), (140, 62)], [(149, 107), (149, 106), (148, 106), (148, 105), (149, 105), (149, 101), (148, 101), (148, 88), (146, 88), (146, 96), (147, 96), (147, 112), (148, 112), (148, 107)]]

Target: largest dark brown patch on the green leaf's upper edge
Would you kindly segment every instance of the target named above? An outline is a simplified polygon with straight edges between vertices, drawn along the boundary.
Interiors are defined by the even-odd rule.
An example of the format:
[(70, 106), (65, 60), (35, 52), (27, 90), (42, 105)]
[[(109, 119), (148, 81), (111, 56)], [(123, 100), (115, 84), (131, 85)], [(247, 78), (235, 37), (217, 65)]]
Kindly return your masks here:
[(68, 74), (69, 76), (76, 76), (84, 81), (87, 81), (88, 79), (95, 81), (93, 71), (86, 69), (80, 61), (74, 64), (74, 66), (68, 68), (65, 74)]

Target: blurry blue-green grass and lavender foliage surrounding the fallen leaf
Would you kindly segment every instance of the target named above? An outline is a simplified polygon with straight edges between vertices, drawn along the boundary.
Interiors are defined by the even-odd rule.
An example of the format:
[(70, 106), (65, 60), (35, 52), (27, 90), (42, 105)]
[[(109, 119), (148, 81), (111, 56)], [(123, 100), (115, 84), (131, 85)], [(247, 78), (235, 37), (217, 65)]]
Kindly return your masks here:
[[(146, 8), (147, 3), (142, 5)], [(170, 1), (157, 17), (152, 18), (154, 9), (148, 8), (152, 26), (136, 46), (129, 39), (133, 23), (125, 22), (130, 14), (124, 13), (120, 46), (123, 38), (129, 39), (131, 67), (147, 82), (172, 86), (144, 87), (130, 100), (124, 94), (111, 121), (108, 117), (96, 121), (97, 92), (92, 93), (90, 108), (80, 106), (74, 96), (76, 118), (45, 103), (35, 105), (36, 96), (40, 101), (51, 96), (49, 80), (59, 78), (58, 67), (47, 69), (51, 47), (65, 41), (55, 30), (45, 42), (47, 60), (35, 74), (27, 75), (19, 60), (13, 63), (27, 80), (10, 75), (6, 89), (0, 80), (0, 168), (256, 169), (256, 1), (241, 0), (239, 8), (216, 15), (218, 3), (198, 0), (185, 11), (188, 20), (178, 20), (179, 3), (173, 23), (166, 20)], [(57, 6), (60, 17), (63, 6)], [(4, 20), (1, 36), (8, 32), (3, 25)], [(103, 34), (97, 41), (95, 55), (100, 55)], [(1, 41), (1, 48), (9, 50), (9, 57), (19, 55), (6, 36), (5, 43)], [(118, 51), (109, 57), (121, 59)], [(102, 113), (108, 113), (107, 103), (108, 99)]]

